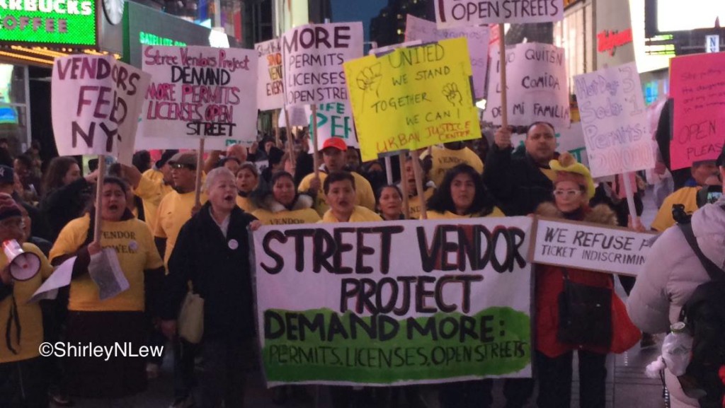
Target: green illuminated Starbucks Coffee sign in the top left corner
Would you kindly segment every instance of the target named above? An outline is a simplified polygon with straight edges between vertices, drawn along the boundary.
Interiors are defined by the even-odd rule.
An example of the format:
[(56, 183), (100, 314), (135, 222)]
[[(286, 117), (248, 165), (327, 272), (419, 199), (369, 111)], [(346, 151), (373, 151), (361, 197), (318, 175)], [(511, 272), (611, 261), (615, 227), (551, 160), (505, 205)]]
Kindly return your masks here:
[(0, 42), (96, 45), (96, 1), (0, 0)]

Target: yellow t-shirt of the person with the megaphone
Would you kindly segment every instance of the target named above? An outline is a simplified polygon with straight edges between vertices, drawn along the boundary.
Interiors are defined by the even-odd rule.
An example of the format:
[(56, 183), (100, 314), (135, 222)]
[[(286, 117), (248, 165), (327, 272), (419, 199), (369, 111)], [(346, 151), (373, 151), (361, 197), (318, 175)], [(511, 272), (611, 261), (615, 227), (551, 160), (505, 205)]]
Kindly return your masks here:
[[(43, 280), (46, 280), (53, 273), (53, 267), (43, 255), (43, 252), (32, 243), (23, 243), (22, 249), (25, 252), (38, 255), (38, 258), (41, 259), (41, 269), (33, 278), (14, 282), (12, 296), (7, 296), (7, 298), (0, 301), (0, 364), (38, 357), (40, 355), (38, 347), (43, 342), (43, 313), (41, 307), (37, 303), (28, 303), (28, 300), (41, 287)], [(0, 251), (0, 267), (7, 267), (7, 257), (4, 251)], [(10, 344), (17, 351), (17, 354), (13, 354), (5, 342), (5, 339), (8, 338), (6, 322), (10, 316), (13, 296), (17, 305), (17, 316), (20, 320), (20, 344), (17, 342), (17, 327), (14, 323), (10, 325), (9, 338)]]

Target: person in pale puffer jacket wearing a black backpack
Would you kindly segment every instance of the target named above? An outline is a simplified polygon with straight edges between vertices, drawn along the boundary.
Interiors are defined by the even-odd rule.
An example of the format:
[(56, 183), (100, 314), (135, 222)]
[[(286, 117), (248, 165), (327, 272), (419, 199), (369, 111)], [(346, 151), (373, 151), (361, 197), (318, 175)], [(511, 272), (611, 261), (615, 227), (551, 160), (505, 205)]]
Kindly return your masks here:
[[(725, 151), (718, 159), (725, 176)], [(708, 259), (725, 269), (725, 197), (707, 204), (692, 215), (697, 245)], [(666, 333), (679, 320), (680, 309), (697, 286), (710, 280), (679, 227), (665, 230), (647, 254), (644, 270), (627, 301), (632, 322), (647, 333)], [(685, 396), (677, 378), (665, 370), (671, 408), (697, 408), (697, 400)]]

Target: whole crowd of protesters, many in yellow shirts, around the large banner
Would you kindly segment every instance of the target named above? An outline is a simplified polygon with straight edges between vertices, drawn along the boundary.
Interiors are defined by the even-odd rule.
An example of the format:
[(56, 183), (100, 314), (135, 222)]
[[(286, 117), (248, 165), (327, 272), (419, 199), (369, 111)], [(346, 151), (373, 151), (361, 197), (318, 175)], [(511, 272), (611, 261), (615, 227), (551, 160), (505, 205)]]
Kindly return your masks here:
[[(141, 357), (44, 358), (38, 354), (43, 341), (167, 344), (174, 365), (171, 407), (244, 406), (246, 378), (259, 365), (248, 229), (260, 225), (537, 214), (645, 229), (628, 217), (623, 187), (631, 183), (641, 212), (645, 186), (639, 176), (595, 183), (587, 167), (571, 154), (556, 151), (552, 125), (537, 122), (520, 130), (526, 133), (521, 146), (512, 146), (512, 131), (496, 130), (490, 146), (484, 137), (421, 151), (420, 184), (413, 163), (417, 157), (407, 157), (402, 166), (395, 158), (386, 169), (382, 160), (361, 162), (360, 152), (341, 138), (324, 142), (315, 172), (304, 133), (294, 140), (294, 149), (265, 137), (250, 149), (234, 145), (212, 151), (203, 161), (196, 151), (163, 151), (155, 162), (148, 151), (139, 151), (133, 166), (112, 166), (99, 191), (98, 170), (83, 174), (78, 158), (56, 157), (43, 164), (39, 146), (14, 159), (7, 151), (0, 154), (7, 157), (7, 162), (0, 160), (0, 241), (17, 240), (22, 249), (41, 258), (37, 275), (14, 281), (7, 257), (0, 254), (0, 407), (64, 407), (78, 398), (133, 407), (162, 364), (160, 358)], [(692, 213), (716, 201), (717, 196), (701, 191), (718, 190), (724, 165), (722, 156), (718, 163), (693, 163), (692, 177), (663, 199), (653, 230), (663, 232), (674, 225), (678, 209)], [(388, 183), (386, 171), (392, 171), (394, 183)], [(202, 180), (196, 180), (198, 174)], [(199, 204), (197, 182), (203, 186)], [(418, 191), (420, 185), (423, 191)], [(94, 239), (96, 194), (101, 195), (100, 241)], [(725, 217), (718, 217), (713, 216), (722, 229)], [(707, 220), (695, 220), (702, 228), (713, 228)], [(665, 231), (668, 235), (672, 234)], [(88, 270), (105, 248), (115, 249), (130, 287), (101, 300)], [(721, 247), (718, 250), (723, 253)], [(75, 257), (70, 287), (55, 300), (28, 303), (53, 267), (70, 257)], [(662, 257), (674, 254), (663, 250)], [(613, 275), (544, 265), (535, 265), (534, 275), (532, 363), (537, 375), (506, 380), (505, 406), (528, 404), (538, 381), (538, 407), (570, 407), (576, 351), (581, 407), (605, 407), (605, 360), (610, 352), (621, 351), (621, 344), (560, 341), (557, 302), (565, 280), (613, 291)], [(634, 285), (631, 279), (622, 283), (628, 292)], [(177, 317), (189, 288), (204, 299), (199, 344), (178, 336)], [(661, 333), (667, 329), (667, 312), (673, 311), (665, 308), (660, 320), (649, 322), (646, 304), (657, 293), (647, 291), (653, 289), (635, 289), (642, 303), (637, 320), (647, 322), (642, 325), (645, 331)], [(666, 301), (655, 300), (660, 308)], [(618, 298), (612, 307), (624, 312)], [(631, 324), (615, 324), (612, 329), (615, 335), (636, 330)], [(652, 344), (645, 333), (642, 345)], [(196, 370), (199, 365), (202, 370)], [(443, 384), (439, 404), (491, 407), (491, 391), (491, 380)], [(402, 401), (409, 407), (425, 406), (415, 386), (375, 392), (330, 387), (329, 392), (335, 408), (371, 400), (376, 407), (397, 407)], [(290, 398), (311, 399), (302, 386), (276, 388), (271, 394), (278, 404)]]

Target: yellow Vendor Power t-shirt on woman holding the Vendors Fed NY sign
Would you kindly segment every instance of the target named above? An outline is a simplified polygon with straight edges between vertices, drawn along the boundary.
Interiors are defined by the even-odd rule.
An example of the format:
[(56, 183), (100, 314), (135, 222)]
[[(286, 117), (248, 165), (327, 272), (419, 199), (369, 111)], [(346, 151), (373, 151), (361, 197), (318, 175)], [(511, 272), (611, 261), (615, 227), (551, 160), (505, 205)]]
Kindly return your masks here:
[[(62, 255), (77, 251), (88, 236), (91, 217), (76, 218), (60, 231), (58, 239), (50, 250), (51, 261)], [(84, 274), (70, 282), (68, 310), (87, 312), (143, 312), (144, 270), (157, 269), (164, 265), (154, 245), (151, 231), (143, 221), (130, 220), (101, 222), (101, 247), (113, 248), (118, 263), (130, 287), (111, 299), (99, 300), (98, 286), (91, 276)]]

